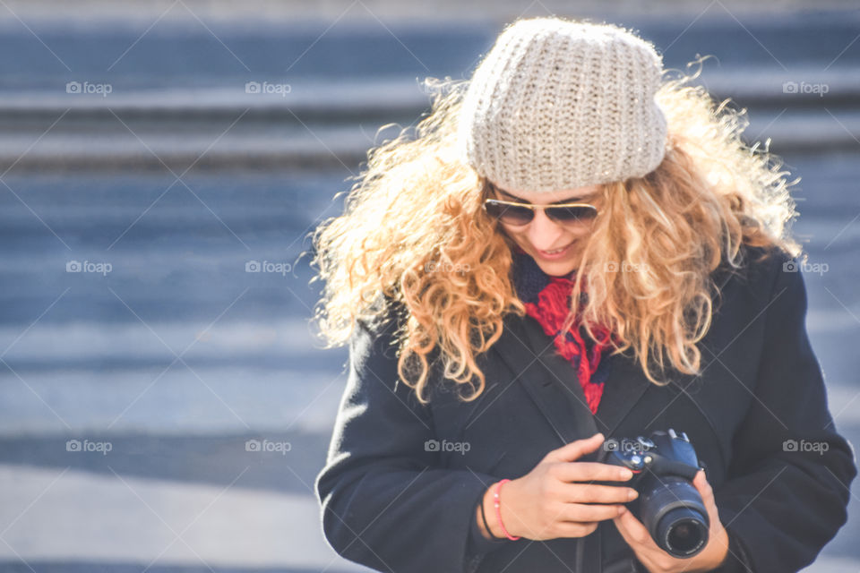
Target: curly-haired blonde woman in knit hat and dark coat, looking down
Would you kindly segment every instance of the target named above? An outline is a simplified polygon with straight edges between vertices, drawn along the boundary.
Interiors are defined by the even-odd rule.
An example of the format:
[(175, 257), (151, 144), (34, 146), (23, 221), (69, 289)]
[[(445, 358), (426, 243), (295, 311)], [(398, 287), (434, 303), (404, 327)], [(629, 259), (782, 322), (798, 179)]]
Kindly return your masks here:
[[(350, 352), (315, 483), (340, 555), (783, 572), (845, 523), (856, 463), (805, 331), (787, 174), (663, 75), (627, 30), (517, 21), (317, 229), (317, 318)], [(598, 461), (670, 428), (706, 470), (707, 543), (684, 558)]]

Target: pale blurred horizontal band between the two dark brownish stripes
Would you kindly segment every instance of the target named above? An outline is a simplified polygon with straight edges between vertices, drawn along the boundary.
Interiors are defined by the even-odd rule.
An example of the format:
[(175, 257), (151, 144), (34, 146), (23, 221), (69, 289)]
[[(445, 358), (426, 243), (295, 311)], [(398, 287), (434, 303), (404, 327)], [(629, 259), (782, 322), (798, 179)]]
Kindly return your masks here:
[[(0, 169), (186, 167), (345, 167), (357, 169), (366, 152), (420, 119), (393, 111), (355, 122), (285, 121), (243, 115), (232, 120), (182, 121), (116, 114), (82, 122), (60, 112), (54, 121), (10, 125), (0, 133)], [(771, 150), (822, 152), (860, 146), (860, 109), (753, 108), (748, 142), (772, 140)], [(53, 124), (53, 126), (52, 126)]]

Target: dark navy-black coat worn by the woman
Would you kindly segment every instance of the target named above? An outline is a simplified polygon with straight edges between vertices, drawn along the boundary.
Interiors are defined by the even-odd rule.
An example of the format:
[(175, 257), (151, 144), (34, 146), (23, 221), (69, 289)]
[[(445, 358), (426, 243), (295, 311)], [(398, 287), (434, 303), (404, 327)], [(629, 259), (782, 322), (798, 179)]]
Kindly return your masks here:
[[(506, 317), (502, 337), (477, 356), (487, 386), (476, 401), (445, 391), (452, 381), (434, 363), (428, 406), (398, 381), (395, 321), (362, 324), (314, 484), (325, 537), (348, 560), (397, 573), (641, 569), (611, 520), (581, 540), (490, 541), (477, 533), (475, 510), (490, 483), (528, 474), (572, 440), (671, 427), (687, 433), (707, 467), (732, 541), (730, 563), (718, 570), (804, 568), (847, 520), (856, 460), (830, 416), (805, 328), (804, 278), (784, 267), (789, 261), (777, 252), (741, 273), (715, 271), (722, 297), (700, 342), (701, 377), (672, 371), (672, 383), (659, 387), (632, 355), (604, 355), (610, 370), (597, 415), (570, 363), (528, 316)], [(801, 451), (809, 442), (827, 450)]]

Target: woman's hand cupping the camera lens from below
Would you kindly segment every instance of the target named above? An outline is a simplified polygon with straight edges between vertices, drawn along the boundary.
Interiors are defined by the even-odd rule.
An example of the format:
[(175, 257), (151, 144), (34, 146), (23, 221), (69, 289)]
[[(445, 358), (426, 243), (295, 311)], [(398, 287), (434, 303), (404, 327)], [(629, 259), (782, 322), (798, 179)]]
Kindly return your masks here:
[(633, 517), (629, 510), (625, 510), (623, 514), (613, 519), (615, 527), (624, 537), (624, 541), (631, 546), (633, 552), (636, 553), (636, 558), (650, 573), (710, 571), (718, 568), (726, 560), (728, 535), (726, 528), (719, 521), (714, 492), (705, 478), (705, 473), (700, 470), (692, 484), (699, 491), (701, 500), (704, 502), (705, 508), (708, 509), (710, 529), (708, 544), (701, 552), (689, 559), (678, 559), (660, 549), (657, 543), (651, 539), (648, 529), (641, 524), (639, 519)]

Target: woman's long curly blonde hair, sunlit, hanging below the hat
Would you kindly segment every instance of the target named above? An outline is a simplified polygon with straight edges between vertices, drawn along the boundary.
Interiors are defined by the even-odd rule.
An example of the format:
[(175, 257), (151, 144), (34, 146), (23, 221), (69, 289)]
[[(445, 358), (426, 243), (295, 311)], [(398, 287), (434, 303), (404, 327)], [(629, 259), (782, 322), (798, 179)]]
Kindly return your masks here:
[[(745, 109), (717, 104), (692, 75), (661, 84), (657, 98), (667, 116), (666, 157), (641, 178), (602, 185), (604, 210), (584, 239), (566, 326), (577, 317), (612, 330), (614, 354), (632, 348), (649, 381), (665, 372), (665, 356), (680, 372), (698, 374), (696, 343), (710, 328), (714, 288), (710, 273), (721, 261), (743, 264), (741, 245), (776, 246), (792, 256), (801, 247), (788, 234), (796, 217), (782, 161), (740, 135)], [(689, 64), (688, 64), (689, 65)], [(313, 233), (318, 277), (316, 305), (327, 346), (348, 341), (357, 320), (390, 312), (383, 299), (405, 309), (397, 338), (400, 379), (418, 400), (430, 381), (428, 356), (441, 358), (443, 375), (470, 384), (471, 401), (486, 386), (477, 353), (501, 336), (508, 312), (525, 315), (513, 286), (512, 239), (482, 209), (486, 180), (464, 163), (455, 138), (468, 81), (427, 78), (432, 106), (414, 136), (368, 151), (340, 217)], [(636, 272), (606, 272), (627, 265)], [(587, 302), (581, 304), (583, 280)]]

